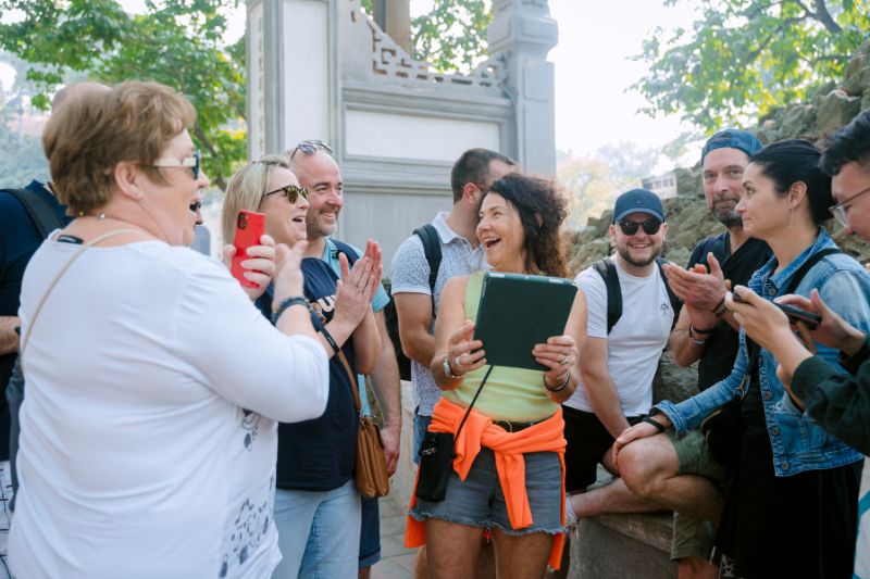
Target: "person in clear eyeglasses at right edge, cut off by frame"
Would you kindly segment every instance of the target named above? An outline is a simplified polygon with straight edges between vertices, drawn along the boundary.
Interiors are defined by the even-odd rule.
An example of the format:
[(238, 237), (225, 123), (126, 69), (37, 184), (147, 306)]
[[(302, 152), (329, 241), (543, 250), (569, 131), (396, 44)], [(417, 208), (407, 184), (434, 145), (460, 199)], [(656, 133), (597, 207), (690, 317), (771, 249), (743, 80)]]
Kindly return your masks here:
[[(830, 207), (847, 231), (870, 241), (870, 111), (858, 115), (830, 140), (819, 163), (832, 177)], [(870, 299), (867, 293), (853, 298)], [(745, 304), (729, 303), (746, 335), (776, 358), (776, 376), (791, 400), (831, 436), (870, 455), (870, 338), (849, 324), (818, 290), (779, 300), (821, 316), (818, 328), (798, 324), (799, 335), (779, 309), (749, 294)], [(804, 327), (801, 327), (804, 326)], [(838, 364), (820, 355), (817, 343), (840, 351)], [(842, 367), (841, 367), (842, 366)], [(846, 372), (844, 372), (846, 370)], [(858, 541), (854, 575), (870, 578), (870, 462), (865, 457), (858, 499)]]

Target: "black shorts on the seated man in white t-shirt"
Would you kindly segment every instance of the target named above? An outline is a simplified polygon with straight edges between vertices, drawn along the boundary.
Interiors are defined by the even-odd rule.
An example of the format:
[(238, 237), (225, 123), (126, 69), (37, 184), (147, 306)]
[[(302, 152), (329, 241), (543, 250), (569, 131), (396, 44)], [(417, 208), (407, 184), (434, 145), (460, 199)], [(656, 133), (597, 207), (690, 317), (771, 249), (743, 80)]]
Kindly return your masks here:
[[(562, 416), (568, 441), (564, 450), (564, 488), (569, 493), (584, 491), (595, 482), (598, 463), (613, 445), (614, 439), (595, 413), (562, 405)], [(639, 423), (642, 418), (626, 417), (630, 425)]]

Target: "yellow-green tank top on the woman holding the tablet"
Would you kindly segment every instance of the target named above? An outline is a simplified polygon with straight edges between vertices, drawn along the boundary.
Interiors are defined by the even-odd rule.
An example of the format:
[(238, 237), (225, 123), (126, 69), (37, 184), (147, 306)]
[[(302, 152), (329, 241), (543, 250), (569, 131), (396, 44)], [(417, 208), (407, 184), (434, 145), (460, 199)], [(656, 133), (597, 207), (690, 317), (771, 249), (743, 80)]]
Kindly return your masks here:
[[(483, 275), (483, 272), (472, 274), (465, 288), (465, 317), (475, 322)], [(483, 348), (486, 350), (485, 343)], [(450, 402), (468, 407), (487, 368), (488, 366), (483, 366), (468, 373), (459, 388), (444, 391), (442, 395)], [(544, 393), (543, 377), (544, 373), (539, 370), (496, 366), (489, 374), (481, 395), (477, 397), (474, 410), (498, 420), (524, 423), (548, 418), (556, 413), (559, 405)]]

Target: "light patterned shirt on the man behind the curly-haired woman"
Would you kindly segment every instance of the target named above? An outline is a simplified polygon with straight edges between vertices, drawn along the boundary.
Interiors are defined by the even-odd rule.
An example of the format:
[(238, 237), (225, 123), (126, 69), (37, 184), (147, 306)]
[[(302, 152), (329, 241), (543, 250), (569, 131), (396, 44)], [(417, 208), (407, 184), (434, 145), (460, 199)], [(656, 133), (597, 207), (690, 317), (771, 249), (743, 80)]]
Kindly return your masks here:
[[(482, 269), (486, 266), (484, 252), (481, 246), (472, 248), (464, 237), (450, 229), (445, 221), (448, 213), (438, 213), (432, 225), (438, 231), (442, 242), (442, 263), (438, 267), (438, 278), (435, 281), (435, 313), (440, 304), (444, 285), (451, 277), (463, 276)], [(393, 257), (393, 295), (397, 293), (425, 293), (431, 295), (428, 287), (428, 262), (423, 252), (423, 242), (415, 235), (412, 235), (399, 246), (396, 255)], [(432, 320), (428, 329), (430, 333), (435, 333), (435, 320)], [(432, 373), (427, 367), (411, 361), (411, 381), (417, 390), (418, 413), (423, 416), (432, 416), (432, 408), (438, 401), (440, 389), (435, 383)]]

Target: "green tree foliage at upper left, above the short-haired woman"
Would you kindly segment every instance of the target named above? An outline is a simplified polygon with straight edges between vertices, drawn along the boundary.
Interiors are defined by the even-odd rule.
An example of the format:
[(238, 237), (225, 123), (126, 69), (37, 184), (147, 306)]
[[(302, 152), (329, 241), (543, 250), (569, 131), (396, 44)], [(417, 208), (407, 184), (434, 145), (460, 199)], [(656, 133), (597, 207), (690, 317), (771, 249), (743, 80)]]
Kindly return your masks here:
[(221, 10), (234, 1), (149, 0), (146, 14), (127, 14), (114, 0), (0, 0), (24, 20), (0, 23), (0, 48), (33, 66), (27, 78), (47, 93), (69, 73), (108, 84), (154, 80), (184, 93), (197, 110), (191, 135), (212, 182), (223, 188), (245, 160), (245, 42), (223, 42)]

